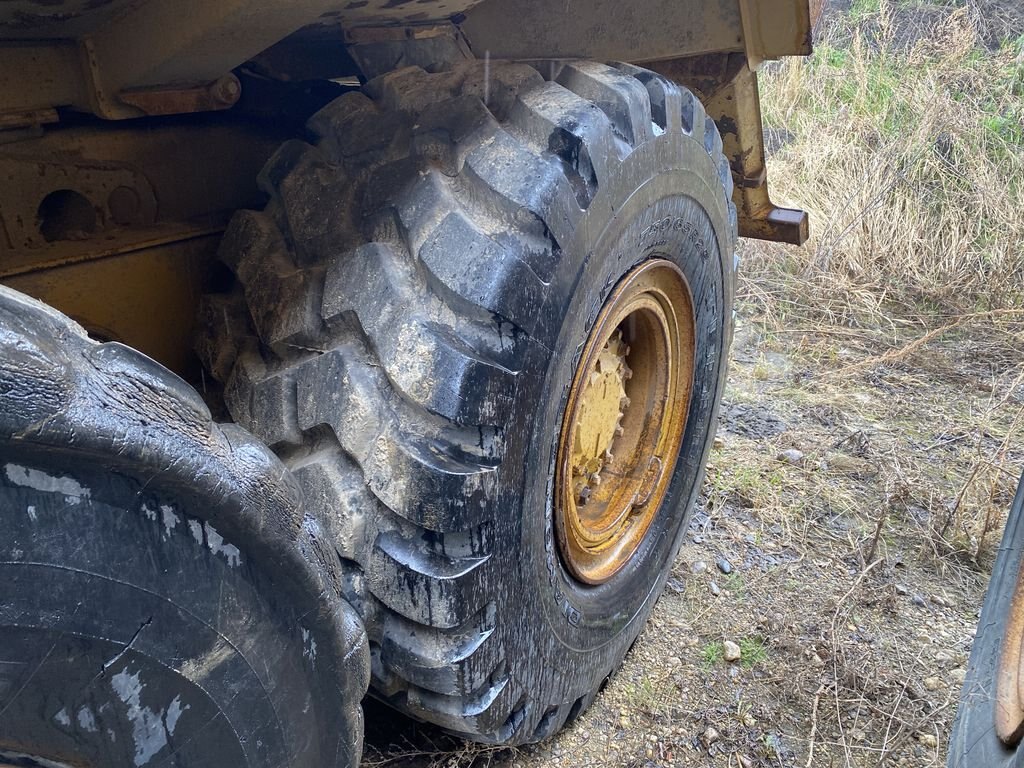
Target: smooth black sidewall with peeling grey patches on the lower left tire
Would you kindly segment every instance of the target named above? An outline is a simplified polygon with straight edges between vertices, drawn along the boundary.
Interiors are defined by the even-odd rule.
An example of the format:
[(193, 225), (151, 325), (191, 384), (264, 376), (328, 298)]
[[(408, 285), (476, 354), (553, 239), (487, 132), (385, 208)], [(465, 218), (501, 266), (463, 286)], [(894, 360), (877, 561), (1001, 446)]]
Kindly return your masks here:
[[(15, 689), (0, 741), (75, 764), (322, 762), (311, 630), (267, 600), (272, 580), (198, 516), (201, 500), (26, 450), (0, 450), (0, 634), (38, 638), (40, 668), (67, 671), (59, 688)], [(42, 717), (19, 721), (35, 710), (18, 696)]]

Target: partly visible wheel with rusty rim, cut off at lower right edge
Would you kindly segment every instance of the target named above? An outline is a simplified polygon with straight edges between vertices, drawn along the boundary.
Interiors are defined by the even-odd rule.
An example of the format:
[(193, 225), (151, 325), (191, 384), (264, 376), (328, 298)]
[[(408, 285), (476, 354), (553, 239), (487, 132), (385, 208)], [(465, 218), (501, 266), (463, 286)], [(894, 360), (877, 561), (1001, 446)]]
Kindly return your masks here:
[[(1004, 743), (996, 728), (997, 717), (1002, 722), (1024, 723), (1017, 685), (1020, 667), (1004, 659), (1004, 648), (1013, 643), (1012, 650), (1020, 652), (1022, 624), (1024, 624), (1024, 595), (1021, 594), (1021, 567), (1024, 566), (1024, 477), (1017, 488), (1017, 498), (1007, 518), (1007, 528), (999, 545), (999, 552), (992, 568), (992, 580), (985, 593), (978, 632), (971, 649), (967, 678), (961, 691), (956, 722), (949, 739), (950, 768), (997, 768), (998, 766), (1024, 765), (1024, 744), (1020, 733), (1011, 743)], [(1016, 597), (1016, 605), (1015, 605)], [(1011, 625), (1016, 625), (1012, 629)], [(1010, 662), (1009, 664), (1001, 664)], [(1016, 694), (1004, 688), (1000, 691), (999, 670), (1004, 667), (1007, 679)], [(1001, 708), (1002, 712), (997, 713)], [(1016, 713), (1016, 715), (1015, 715)], [(1024, 730), (1024, 726), (1021, 726)], [(1008, 729), (1009, 734), (1009, 729)]]

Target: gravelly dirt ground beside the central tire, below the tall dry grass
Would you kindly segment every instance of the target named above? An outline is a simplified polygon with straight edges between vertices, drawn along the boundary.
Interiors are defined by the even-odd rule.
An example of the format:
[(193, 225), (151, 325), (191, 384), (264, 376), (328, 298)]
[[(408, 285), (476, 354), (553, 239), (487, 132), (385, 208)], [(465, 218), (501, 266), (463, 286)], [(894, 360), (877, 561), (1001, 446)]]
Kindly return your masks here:
[(1024, 465), (1020, 359), (985, 334), (886, 357), (870, 338), (741, 302), (703, 499), (594, 707), (518, 751), (373, 708), (365, 765), (944, 765)]

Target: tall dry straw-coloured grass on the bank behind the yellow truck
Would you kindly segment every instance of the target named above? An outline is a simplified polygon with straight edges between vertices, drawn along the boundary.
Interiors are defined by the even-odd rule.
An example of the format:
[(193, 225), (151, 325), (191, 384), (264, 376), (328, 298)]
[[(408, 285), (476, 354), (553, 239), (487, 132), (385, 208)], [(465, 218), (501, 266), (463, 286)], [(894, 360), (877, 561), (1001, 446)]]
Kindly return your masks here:
[(763, 73), (765, 123), (782, 143), (773, 195), (809, 210), (813, 238), (749, 249), (748, 275), (796, 279), (798, 300), (848, 326), (894, 309), (1019, 307), (1024, 37), (986, 48), (977, 6), (864, 6), (859, 23), (829, 25), (812, 58)]

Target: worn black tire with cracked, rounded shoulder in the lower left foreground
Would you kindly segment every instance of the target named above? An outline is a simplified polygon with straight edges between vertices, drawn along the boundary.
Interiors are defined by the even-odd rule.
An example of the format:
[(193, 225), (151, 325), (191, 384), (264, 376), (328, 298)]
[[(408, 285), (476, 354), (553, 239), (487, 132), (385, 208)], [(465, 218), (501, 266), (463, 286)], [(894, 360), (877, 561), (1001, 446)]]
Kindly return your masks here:
[(369, 653), (294, 481), (0, 288), (0, 764), (359, 763)]

